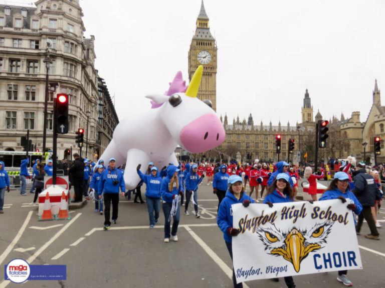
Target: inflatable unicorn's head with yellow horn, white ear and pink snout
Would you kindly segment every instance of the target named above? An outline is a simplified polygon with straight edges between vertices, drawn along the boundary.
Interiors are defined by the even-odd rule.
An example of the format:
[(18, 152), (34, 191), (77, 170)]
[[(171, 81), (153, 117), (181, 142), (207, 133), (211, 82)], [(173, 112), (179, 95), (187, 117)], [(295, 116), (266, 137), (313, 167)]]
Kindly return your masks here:
[(149, 95), (160, 109), (159, 116), (172, 138), (189, 152), (200, 153), (225, 140), (225, 129), (211, 107), (211, 101), (197, 98), (203, 66), (200, 65), (185, 92)]

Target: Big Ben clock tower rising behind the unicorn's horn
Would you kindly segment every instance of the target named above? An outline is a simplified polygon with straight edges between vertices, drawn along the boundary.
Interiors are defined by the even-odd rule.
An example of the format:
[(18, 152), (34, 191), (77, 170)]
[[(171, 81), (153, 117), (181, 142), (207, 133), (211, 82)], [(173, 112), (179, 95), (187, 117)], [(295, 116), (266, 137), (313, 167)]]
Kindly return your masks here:
[(201, 100), (212, 101), (213, 109), (217, 111), (217, 43), (210, 32), (209, 17), (203, 0), (197, 18), (197, 29), (188, 51), (188, 78), (190, 81), (199, 65), (203, 65), (203, 75), (197, 97)]

